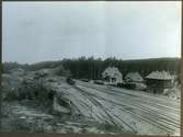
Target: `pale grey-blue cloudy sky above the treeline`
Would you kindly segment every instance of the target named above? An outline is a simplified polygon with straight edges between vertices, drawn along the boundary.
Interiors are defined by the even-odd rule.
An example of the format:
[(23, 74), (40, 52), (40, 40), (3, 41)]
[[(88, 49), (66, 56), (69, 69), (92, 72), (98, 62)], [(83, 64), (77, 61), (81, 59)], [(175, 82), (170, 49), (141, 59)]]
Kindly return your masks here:
[(181, 1), (2, 2), (2, 61), (181, 57)]

